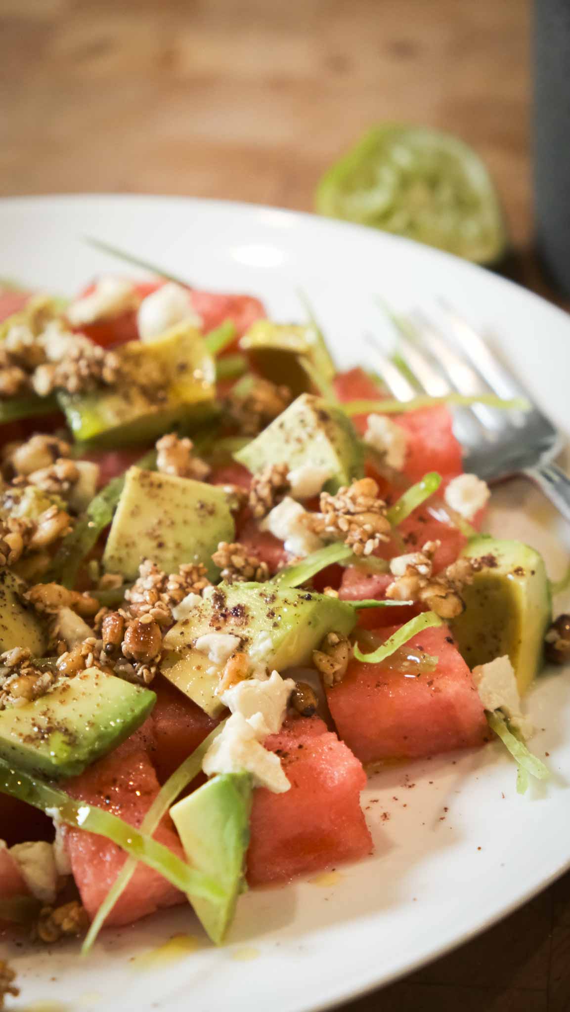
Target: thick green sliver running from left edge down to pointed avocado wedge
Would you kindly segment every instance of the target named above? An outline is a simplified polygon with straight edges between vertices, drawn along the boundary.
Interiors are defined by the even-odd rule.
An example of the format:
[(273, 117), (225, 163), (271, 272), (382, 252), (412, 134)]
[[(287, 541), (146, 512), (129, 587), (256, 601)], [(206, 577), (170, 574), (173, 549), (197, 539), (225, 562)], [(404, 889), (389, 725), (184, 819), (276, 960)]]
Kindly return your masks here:
[(85, 802), (77, 802), (65, 791), (12, 769), (2, 760), (0, 791), (18, 797), (42, 812), (57, 815), (68, 826), (104, 836), (143, 864), (158, 871), (182, 893), (195, 893), (214, 903), (221, 897), (221, 890), (215, 881), (194, 871), (162, 843), (139, 832), (110, 812), (104, 812)]

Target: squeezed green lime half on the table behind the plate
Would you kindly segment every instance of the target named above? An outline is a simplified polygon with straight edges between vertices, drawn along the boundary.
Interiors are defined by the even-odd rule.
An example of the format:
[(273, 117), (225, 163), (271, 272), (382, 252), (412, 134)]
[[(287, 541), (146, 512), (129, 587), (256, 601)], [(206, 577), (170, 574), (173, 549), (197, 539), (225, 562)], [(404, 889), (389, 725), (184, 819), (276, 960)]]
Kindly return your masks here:
[(479, 156), (450, 134), (385, 123), (328, 169), (316, 209), (447, 250), (499, 260), (507, 234), (497, 191)]

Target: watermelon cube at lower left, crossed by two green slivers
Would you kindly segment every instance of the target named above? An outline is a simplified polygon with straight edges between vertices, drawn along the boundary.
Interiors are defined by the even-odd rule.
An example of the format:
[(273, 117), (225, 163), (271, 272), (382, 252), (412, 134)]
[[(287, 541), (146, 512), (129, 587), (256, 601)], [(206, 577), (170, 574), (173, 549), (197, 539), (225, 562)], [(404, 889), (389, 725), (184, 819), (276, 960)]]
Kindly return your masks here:
[[(69, 781), (66, 789), (73, 797), (111, 812), (138, 828), (158, 794), (159, 783), (147, 753), (126, 750), (125, 745)], [(169, 817), (163, 819), (155, 838), (179, 857), (184, 857)], [(104, 837), (79, 829), (67, 831), (66, 846), (81, 901), (89, 917), (93, 918), (127, 855)], [(131, 924), (159, 908), (184, 902), (185, 897), (166, 878), (139, 864), (105, 923)]]

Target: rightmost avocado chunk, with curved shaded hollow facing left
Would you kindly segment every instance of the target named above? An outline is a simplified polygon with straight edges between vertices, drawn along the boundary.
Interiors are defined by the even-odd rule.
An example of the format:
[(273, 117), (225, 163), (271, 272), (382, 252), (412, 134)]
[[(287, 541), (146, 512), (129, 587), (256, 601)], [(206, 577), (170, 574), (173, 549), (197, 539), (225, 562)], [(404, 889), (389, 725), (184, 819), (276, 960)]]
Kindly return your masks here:
[(460, 653), (470, 668), (508, 654), (522, 693), (541, 669), (552, 615), (543, 558), (489, 535), (472, 537), (462, 554), (477, 560), (477, 570), (462, 591), (465, 611), (450, 623)]

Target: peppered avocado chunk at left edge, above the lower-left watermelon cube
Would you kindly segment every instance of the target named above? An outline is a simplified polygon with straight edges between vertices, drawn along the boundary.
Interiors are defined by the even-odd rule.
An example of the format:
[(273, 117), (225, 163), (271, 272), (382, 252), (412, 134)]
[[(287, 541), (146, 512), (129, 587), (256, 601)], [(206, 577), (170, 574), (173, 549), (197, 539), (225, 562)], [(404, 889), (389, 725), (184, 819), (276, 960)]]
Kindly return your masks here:
[(155, 701), (149, 689), (88, 668), (0, 710), (0, 758), (34, 775), (75, 776), (133, 734)]

